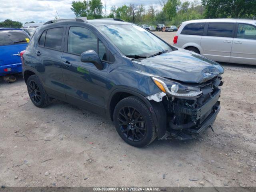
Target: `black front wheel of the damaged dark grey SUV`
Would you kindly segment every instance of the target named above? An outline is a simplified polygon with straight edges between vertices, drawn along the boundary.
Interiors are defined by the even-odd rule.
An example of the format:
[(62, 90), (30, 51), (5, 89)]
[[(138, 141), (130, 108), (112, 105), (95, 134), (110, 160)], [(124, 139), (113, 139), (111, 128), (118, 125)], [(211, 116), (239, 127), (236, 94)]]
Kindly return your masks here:
[(137, 97), (122, 99), (114, 109), (114, 124), (119, 136), (128, 144), (144, 147), (156, 138), (156, 129), (147, 106)]

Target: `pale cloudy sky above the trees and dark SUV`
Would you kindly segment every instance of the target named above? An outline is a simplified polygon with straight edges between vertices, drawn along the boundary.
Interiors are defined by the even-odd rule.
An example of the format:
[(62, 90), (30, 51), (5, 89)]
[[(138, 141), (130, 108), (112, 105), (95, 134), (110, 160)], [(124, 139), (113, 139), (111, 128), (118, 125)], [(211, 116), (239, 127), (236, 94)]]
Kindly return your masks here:
[[(82, 0), (83, 1), (83, 0)], [(102, 0), (106, 2), (107, 14), (110, 13), (112, 5), (122, 6), (123, 4), (144, 4), (146, 7), (153, 4), (158, 8), (158, 0)], [(46, 22), (53, 20), (57, 16), (60, 18), (74, 18), (74, 13), (70, 10), (72, 0), (0, 0), (0, 22), (11, 19), (25, 22)], [(103, 10), (103, 13), (105, 10)]]

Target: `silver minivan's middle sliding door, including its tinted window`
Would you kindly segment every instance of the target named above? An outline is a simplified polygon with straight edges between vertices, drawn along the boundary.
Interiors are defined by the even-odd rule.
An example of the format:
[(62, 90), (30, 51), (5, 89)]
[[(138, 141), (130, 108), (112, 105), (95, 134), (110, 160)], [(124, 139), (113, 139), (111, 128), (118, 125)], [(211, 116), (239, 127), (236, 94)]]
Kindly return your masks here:
[(211, 22), (207, 25), (201, 40), (203, 55), (215, 61), (229, 62), (235, 23)]

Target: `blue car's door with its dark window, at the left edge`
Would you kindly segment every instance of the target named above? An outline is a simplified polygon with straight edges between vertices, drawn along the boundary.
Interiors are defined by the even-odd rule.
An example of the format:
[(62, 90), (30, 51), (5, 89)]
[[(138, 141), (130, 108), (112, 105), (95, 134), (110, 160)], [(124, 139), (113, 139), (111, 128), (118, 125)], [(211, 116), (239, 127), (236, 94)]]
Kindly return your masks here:
[(29, 37), (22, 30), (0, 29), (0, 65), (21, 64), (16, 54), (26, 49)]

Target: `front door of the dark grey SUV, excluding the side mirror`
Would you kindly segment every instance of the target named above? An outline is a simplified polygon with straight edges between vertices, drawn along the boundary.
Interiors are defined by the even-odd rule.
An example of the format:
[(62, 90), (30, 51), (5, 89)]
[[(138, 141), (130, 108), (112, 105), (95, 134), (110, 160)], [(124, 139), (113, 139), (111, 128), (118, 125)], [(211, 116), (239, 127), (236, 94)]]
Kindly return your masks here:
[[(68, 102), (104, 113), (104, 94), (106, 92), (106, 46), (88, 28), (68, 27), (67, 49), (62, 55), (63, 78)], [(104, 65), (99, 70), (92, 63), (81, 62), (82, 52), (94, 50)]]

